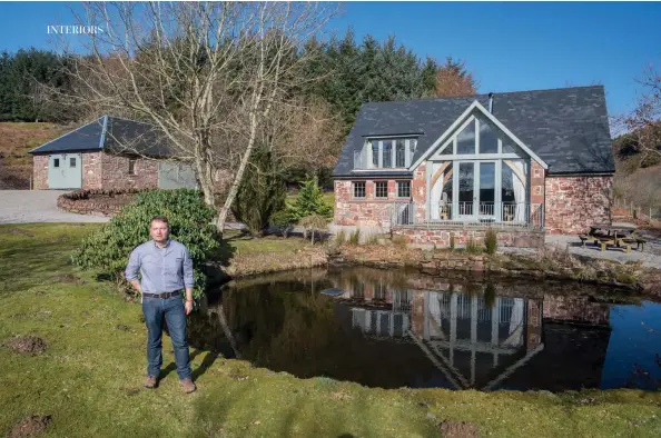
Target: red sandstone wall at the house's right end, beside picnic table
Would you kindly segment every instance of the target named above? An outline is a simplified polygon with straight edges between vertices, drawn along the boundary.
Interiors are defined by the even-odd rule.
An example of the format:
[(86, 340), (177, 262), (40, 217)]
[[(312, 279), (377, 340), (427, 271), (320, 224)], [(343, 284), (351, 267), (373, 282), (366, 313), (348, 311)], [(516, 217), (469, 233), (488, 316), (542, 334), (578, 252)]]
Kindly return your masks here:
[(592, 223), (610, 223), (612, 185), (613, 177), (546, 177), (546, 232), (573, 235)]

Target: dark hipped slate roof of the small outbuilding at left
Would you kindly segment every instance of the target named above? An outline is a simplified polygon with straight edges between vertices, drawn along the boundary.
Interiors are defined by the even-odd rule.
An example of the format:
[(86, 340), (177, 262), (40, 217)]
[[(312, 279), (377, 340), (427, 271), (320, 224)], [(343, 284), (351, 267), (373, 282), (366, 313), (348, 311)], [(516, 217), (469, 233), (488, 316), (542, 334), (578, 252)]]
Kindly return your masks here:
[(167, 157), (167, 139), (152, 126), (135, 120), (103, 116), (80, 128), (32, 149), (30, 153), (58, 153), (107, 150)]

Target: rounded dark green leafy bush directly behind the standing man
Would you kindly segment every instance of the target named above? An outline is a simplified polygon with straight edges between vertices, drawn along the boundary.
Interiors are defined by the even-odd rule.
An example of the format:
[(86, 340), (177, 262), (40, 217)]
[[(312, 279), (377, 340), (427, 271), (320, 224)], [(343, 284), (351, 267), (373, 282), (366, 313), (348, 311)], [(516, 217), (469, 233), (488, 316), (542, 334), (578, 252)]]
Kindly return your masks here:
[(150, 190), (138, 195), (135, 203), (126, 206), (110, 222), (83, 239), (73, 262), (82, 269), (110, 275), (121, 290), (130, 291), (124, 270), (134, 248), (150, 239), (149, 220), (157, 215), (168, 218), (170, 239), (188, 248), (195, 269), (194, 296), (200, 297), (206, 286), (201, 266), (218, 247), (218, 240), (211, 225), (215, 211), (205, 205), (197, 190)]

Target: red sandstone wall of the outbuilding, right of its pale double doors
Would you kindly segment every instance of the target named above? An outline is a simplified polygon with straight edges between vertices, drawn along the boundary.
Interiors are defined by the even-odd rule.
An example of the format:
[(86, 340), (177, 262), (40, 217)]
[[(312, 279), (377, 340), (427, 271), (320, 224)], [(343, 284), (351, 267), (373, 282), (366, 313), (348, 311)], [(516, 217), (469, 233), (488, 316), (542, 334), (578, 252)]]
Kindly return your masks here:
[[(135, 175), (129, 175), (128, 157), (102, 152), (101, 187), (103, 189), (115, 190), (156, 188), (158, 187), (158, 161), (138, 158), (136, 160)], [(83, 185), (83, 188), (91, 189), (92, 187), (86, 187)]]

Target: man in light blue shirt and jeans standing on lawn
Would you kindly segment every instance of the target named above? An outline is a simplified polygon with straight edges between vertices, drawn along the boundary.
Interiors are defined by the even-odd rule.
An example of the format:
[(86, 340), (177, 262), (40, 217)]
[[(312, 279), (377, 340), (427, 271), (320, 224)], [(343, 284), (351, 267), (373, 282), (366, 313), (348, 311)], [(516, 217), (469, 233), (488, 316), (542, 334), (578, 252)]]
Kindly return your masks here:
[[(162, 320), (168, 325), (179, 382), (185, 392), (195, 391), (190, 372), (188, 342), (186, 341), (186, 316), (193, 311), (193, 260), (188, 249), (169, 240), (169, 225), (165, 216), (155, 216), (149, 222), (150, 241), (132, 250), (126, 279), (142, 297), (142, 313), (147, 322), (147, 379), (146, 388), (156, 388), (162, 365)], [(141, 281), (138, 281), (138, 272)], [(186, 289), (186, 303), (181, 290)]]

